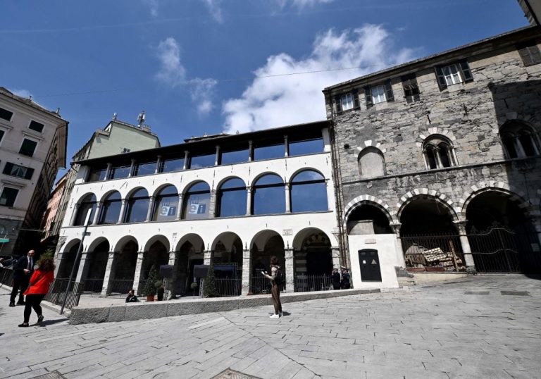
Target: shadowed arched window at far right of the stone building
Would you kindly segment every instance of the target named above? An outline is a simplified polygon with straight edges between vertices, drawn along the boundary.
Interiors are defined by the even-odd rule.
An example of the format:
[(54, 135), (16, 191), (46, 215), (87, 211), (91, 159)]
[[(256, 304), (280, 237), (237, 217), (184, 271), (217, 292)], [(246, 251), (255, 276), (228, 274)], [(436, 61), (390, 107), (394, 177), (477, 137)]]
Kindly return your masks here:
[(539, 139), (526, 124), (518, 121), (506, 123), (499, 131), (507, 158), (525, 158), (540, 154)]

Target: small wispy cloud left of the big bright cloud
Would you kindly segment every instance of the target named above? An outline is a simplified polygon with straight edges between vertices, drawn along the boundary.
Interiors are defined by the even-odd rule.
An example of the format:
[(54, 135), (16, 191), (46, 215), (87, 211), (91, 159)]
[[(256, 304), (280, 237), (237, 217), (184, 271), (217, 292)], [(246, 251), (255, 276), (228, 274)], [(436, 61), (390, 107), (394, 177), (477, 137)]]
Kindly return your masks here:
[(160, 62), (160, 68), (155, 77), (158, 82), (170, 89), (189, 89), (190, 97), (194, 104), (197, 104), (197, 113), (203, 116), (213, 110), (213, 89), (216, 87), (216, 80), (200, 77), (188, 78), (186, 68), (180, 59), (180, 46), (176, 39), (168, 37), (161, 41), (156, 54)]

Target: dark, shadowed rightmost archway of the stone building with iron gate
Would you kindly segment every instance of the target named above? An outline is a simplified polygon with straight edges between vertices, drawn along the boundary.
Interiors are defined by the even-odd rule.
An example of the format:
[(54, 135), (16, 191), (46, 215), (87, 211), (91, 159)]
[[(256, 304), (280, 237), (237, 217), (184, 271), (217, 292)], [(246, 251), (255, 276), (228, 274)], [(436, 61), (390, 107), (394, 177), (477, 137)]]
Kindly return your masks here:
[(541, 272), (528, 206), (512, 193), (485, 190), (466, 204), (466, 232), (480, 272)]

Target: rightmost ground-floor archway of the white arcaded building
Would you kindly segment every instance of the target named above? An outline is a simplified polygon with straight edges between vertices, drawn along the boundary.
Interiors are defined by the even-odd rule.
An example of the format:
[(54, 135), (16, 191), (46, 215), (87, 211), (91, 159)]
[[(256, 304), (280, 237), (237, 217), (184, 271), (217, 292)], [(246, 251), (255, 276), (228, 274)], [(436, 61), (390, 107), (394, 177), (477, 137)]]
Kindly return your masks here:
[(301, 230), (293, 242), (295, 292), (323, 291), (331, 285), (329, 237), (316, 228)]

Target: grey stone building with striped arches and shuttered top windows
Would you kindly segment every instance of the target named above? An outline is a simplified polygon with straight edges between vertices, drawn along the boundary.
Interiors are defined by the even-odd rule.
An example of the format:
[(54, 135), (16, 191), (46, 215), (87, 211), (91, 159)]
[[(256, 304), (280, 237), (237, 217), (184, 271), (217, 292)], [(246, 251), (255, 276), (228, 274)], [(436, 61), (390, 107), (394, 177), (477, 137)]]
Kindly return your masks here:
[(323, 90), (354, 282), (378, 254), (540, 271), (540, 43), (525, 27)]

